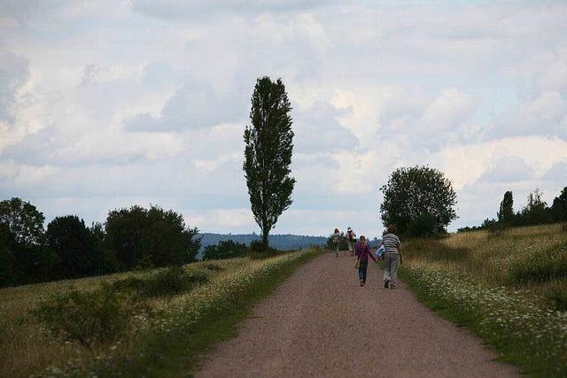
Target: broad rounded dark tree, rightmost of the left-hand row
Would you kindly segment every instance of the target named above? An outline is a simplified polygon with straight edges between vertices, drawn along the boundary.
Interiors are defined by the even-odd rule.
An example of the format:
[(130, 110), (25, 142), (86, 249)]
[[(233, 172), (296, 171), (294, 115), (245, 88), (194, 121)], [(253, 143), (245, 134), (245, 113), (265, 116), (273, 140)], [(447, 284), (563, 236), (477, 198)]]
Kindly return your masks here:
[(144, 257), (153, 266), (189, 263), (200, 245), (197, 228), (187, 228), (181, 214), (157, 206), (109, 212), (105, 233), (106, 247), (125, 268), (141, 266)]

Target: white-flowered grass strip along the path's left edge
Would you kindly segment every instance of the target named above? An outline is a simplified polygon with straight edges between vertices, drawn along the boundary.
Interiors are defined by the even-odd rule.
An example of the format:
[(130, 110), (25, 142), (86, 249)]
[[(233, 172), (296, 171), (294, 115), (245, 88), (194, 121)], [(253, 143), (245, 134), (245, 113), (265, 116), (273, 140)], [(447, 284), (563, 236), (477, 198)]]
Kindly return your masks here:
[(235, 336), (252, 305), (316, 254), (295, 252), (251, 261), (178, 298), (168, 304), (159, 322), (138, 337), (136, 348), (92, 366), (91, 372), (97, 376), (190, 376), (199, 355)]

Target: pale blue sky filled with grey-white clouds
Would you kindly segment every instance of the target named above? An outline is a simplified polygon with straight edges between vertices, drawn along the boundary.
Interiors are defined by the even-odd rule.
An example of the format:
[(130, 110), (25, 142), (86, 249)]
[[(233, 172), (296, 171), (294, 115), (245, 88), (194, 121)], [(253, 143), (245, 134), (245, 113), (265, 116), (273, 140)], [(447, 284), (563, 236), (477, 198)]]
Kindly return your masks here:
[(272, 233), (378, 235), (401, 166), (444, 172), (449, 227), (567, 186), (567, 2), (0, 0), (0, 199), (49, 222), (133, 204), (259, 232), (242, 164), (257, 78), (293, 107)]

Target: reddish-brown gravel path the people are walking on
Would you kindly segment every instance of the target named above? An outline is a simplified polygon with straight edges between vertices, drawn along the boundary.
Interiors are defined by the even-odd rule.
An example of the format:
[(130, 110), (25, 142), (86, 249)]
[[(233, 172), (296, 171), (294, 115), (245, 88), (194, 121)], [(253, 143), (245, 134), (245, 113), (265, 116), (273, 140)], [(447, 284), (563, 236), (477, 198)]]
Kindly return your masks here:
[(369, 264), (365, 287), (350, 256), (301, 266), (256, 305), (198, 377), (504, 377), (517, 370), (462, 328), (440, 319), (399, 282), (384, 289)]

